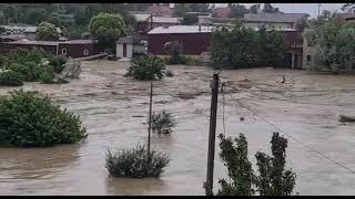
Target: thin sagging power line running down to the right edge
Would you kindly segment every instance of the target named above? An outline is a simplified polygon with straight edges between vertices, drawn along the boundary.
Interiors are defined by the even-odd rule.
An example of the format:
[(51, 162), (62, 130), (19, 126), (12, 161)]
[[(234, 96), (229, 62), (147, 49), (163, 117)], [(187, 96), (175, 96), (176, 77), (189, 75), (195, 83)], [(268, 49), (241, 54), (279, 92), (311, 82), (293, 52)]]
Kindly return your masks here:
[[(231, 96), (234, 101), (236, 101), (236, 102), (241, 103), (239, 100), (234, 98), (234, 97), (233, 97), (233, 95), (231, 95), (231, 94), (230, 94), (230, 96)], [(308, 148), (310, 150), (312, 150), (312, 151), (314, 151), (314, 153), (318, 154), (321, 157), (323, 157), (323, 158), (325, 158), (325, 159), (327, 159), (327, 160), (329, 160), (329, 161), (332, 161), (332, 163), (336, 164), (337, 166), (343, 167), (343, 168), (345, 168), (346, 170), (348, 170), (348, 171), (351, 171), (351, 172), (355, 174), (355, 170), (353, 170), (353, 169), (351, 169), (351, 168), (346, 167), (345, 165), (343, 165), (343, 164), (341, 164), (341, 163), (338, 163), (338, 161), (336, 161), (336, 160), (332, 159), (331, 157), (328, 157), (328, 156), (326, 156), (326, 155), (322, 154), (321, 151), (317, 151), (316, 149), (313, 149), (313, 148), (312, 148), (312, 147), (310, 147), (308, 145), (306, 145), (306, 144), (304, 144), (303, 142), (301, 142), (301, 140), (296, 139), (295, 137), (293, 137), (293, 136), (291, 136), (291, 135), (286, 134), (284, 130), (282, 130), (282, 129), (281, 129), (280, 127), (277, 127), (275, 124), (273, 124), (273, 123), (268, 122), (266, 118), (264, 118), (263, 116), (258, 115), (257, 113), (255, 113), (255, 112), (254, 112), (254, 111), (252, 111), (251, 108), (247, 108), (247, 106), (243, 106), (243, 107), (244, 107), (244, 108), (246, 108), (247, 111), (250, 111), (252, 114), (254, 114), (254, 115), (258, 116), (260, 118), (262, 118), (265, 123), (270, 124), (271, 126), (273, 126), (274, 128), (276, 128), (277, 130), (280, 130), (281, 133), (283, 133), (284, 135), (288, 136), (290, 138), (294, 139), (294, 140), (295, 140), (295, 142), (297, 142), (297, 143), (300, 143), (301, 145), (303, 145), (304, 147)]]

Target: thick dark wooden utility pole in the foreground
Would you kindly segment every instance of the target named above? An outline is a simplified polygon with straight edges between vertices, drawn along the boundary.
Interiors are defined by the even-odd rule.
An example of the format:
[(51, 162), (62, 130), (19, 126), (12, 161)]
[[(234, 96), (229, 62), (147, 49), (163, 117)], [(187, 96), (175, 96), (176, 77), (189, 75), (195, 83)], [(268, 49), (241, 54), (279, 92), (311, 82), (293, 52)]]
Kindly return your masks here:
[(220, 76), (217, 73), (215, 73), (213, 74), (213, 81), (211, 82), (212, 97), (211, 97), (211, 114), (210, 114), (207, 176), (204, 185), (206, 196), (213, 196), (213, 167), (214, 167), (215, 128), (216, 128), (217, 102), (219, 102), (219, 85), (220, 85)]

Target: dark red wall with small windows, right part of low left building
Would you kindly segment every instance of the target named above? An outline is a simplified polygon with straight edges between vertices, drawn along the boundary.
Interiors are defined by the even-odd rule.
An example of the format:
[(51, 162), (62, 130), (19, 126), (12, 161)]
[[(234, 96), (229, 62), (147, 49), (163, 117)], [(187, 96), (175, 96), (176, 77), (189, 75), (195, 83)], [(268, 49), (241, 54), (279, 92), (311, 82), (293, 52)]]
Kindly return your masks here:
[[(67, 56), (70, 57), (84, 57), (98, 54), (98, 48), (95, 43), (88, 44), (73, 44), (73, 43), (59, 43), (58, 54), (62, 54), (62, 49), (67, 49)], [(89, 54), (85, 55), (84, 51), (89, 50)]]

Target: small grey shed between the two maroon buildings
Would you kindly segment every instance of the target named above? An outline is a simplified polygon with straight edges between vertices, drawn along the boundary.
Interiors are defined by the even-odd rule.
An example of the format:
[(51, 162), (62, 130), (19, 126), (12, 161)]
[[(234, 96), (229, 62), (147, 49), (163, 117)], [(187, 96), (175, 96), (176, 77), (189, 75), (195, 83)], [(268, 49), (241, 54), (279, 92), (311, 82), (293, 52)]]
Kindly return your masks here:
[(146, 45), (146, 36), (129, 35), (120, 38), (116, 41), (116, 57), (132, 59), (135, 55), (145, 54), (148, 52)]

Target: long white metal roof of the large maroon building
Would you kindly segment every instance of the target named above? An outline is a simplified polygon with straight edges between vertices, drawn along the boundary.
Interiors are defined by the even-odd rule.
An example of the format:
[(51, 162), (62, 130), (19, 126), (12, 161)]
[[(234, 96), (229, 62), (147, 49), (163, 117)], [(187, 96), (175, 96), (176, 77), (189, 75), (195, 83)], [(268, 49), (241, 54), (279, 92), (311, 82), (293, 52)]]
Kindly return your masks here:
[(201, 30), (199, 30), (199, 25), (158, 27), (148, 34), (209, 33), (212, 32), (212, 27), (201, 27)]

